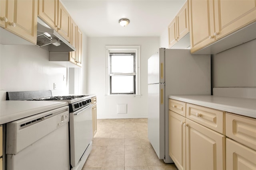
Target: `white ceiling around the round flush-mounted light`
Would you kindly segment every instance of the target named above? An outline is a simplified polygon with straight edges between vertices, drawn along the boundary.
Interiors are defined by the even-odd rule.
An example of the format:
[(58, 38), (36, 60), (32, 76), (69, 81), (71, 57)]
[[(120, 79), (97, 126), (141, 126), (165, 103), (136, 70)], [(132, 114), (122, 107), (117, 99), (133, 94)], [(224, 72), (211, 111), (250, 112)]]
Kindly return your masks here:
[[(88, 37), (160, 36), (186, 0), (61, 0)], [(126, 27), (121, 18), (130, 20)]]

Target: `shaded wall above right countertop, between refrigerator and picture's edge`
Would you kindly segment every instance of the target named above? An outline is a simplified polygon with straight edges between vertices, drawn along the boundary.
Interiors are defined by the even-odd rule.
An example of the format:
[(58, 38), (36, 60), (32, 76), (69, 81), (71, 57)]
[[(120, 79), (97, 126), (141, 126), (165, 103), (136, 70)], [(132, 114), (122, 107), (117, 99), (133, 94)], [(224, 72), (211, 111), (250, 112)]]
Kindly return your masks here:
[(256, 39), (212, 55), (213, 87), (256, 87)]

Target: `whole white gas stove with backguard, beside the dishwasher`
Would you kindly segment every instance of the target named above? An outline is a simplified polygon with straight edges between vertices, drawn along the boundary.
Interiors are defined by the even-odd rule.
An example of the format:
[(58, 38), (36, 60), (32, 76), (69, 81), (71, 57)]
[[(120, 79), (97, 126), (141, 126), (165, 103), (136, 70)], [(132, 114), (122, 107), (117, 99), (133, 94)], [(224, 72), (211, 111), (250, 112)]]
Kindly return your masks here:
[(52, 96), (50, 90), (42, 90), (7, 92), (6, 99), (68, 102), (70, 168), (71, 170), (82, 170), (92, 150), (92, 100), (90, 95)]

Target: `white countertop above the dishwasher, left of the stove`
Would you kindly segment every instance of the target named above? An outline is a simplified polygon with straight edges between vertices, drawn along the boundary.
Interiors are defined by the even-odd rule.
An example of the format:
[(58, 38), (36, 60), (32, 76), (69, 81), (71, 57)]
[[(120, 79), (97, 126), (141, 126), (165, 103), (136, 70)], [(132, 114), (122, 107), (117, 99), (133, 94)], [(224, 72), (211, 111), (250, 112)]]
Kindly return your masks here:
[(0, 125), (58, 107), (68, 106), (68, 102), (54, 101), (4, 100), (0, 102)]

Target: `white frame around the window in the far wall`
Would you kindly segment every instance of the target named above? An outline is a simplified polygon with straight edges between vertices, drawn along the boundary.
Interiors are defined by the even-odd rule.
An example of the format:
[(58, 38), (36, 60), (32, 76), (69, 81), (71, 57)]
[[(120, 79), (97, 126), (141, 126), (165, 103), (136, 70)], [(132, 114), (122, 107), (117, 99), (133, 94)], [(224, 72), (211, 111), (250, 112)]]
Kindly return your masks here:
[[(140, 96), (140, 46), (112, 46), (106, 45), (106, 95), (107, 96)], [(136, 53), (136, 75), (135, 75), (135, 94), (111, 94), (110, 93), (110, 73), (109, 73), (109, 54), (110, 53)]]

